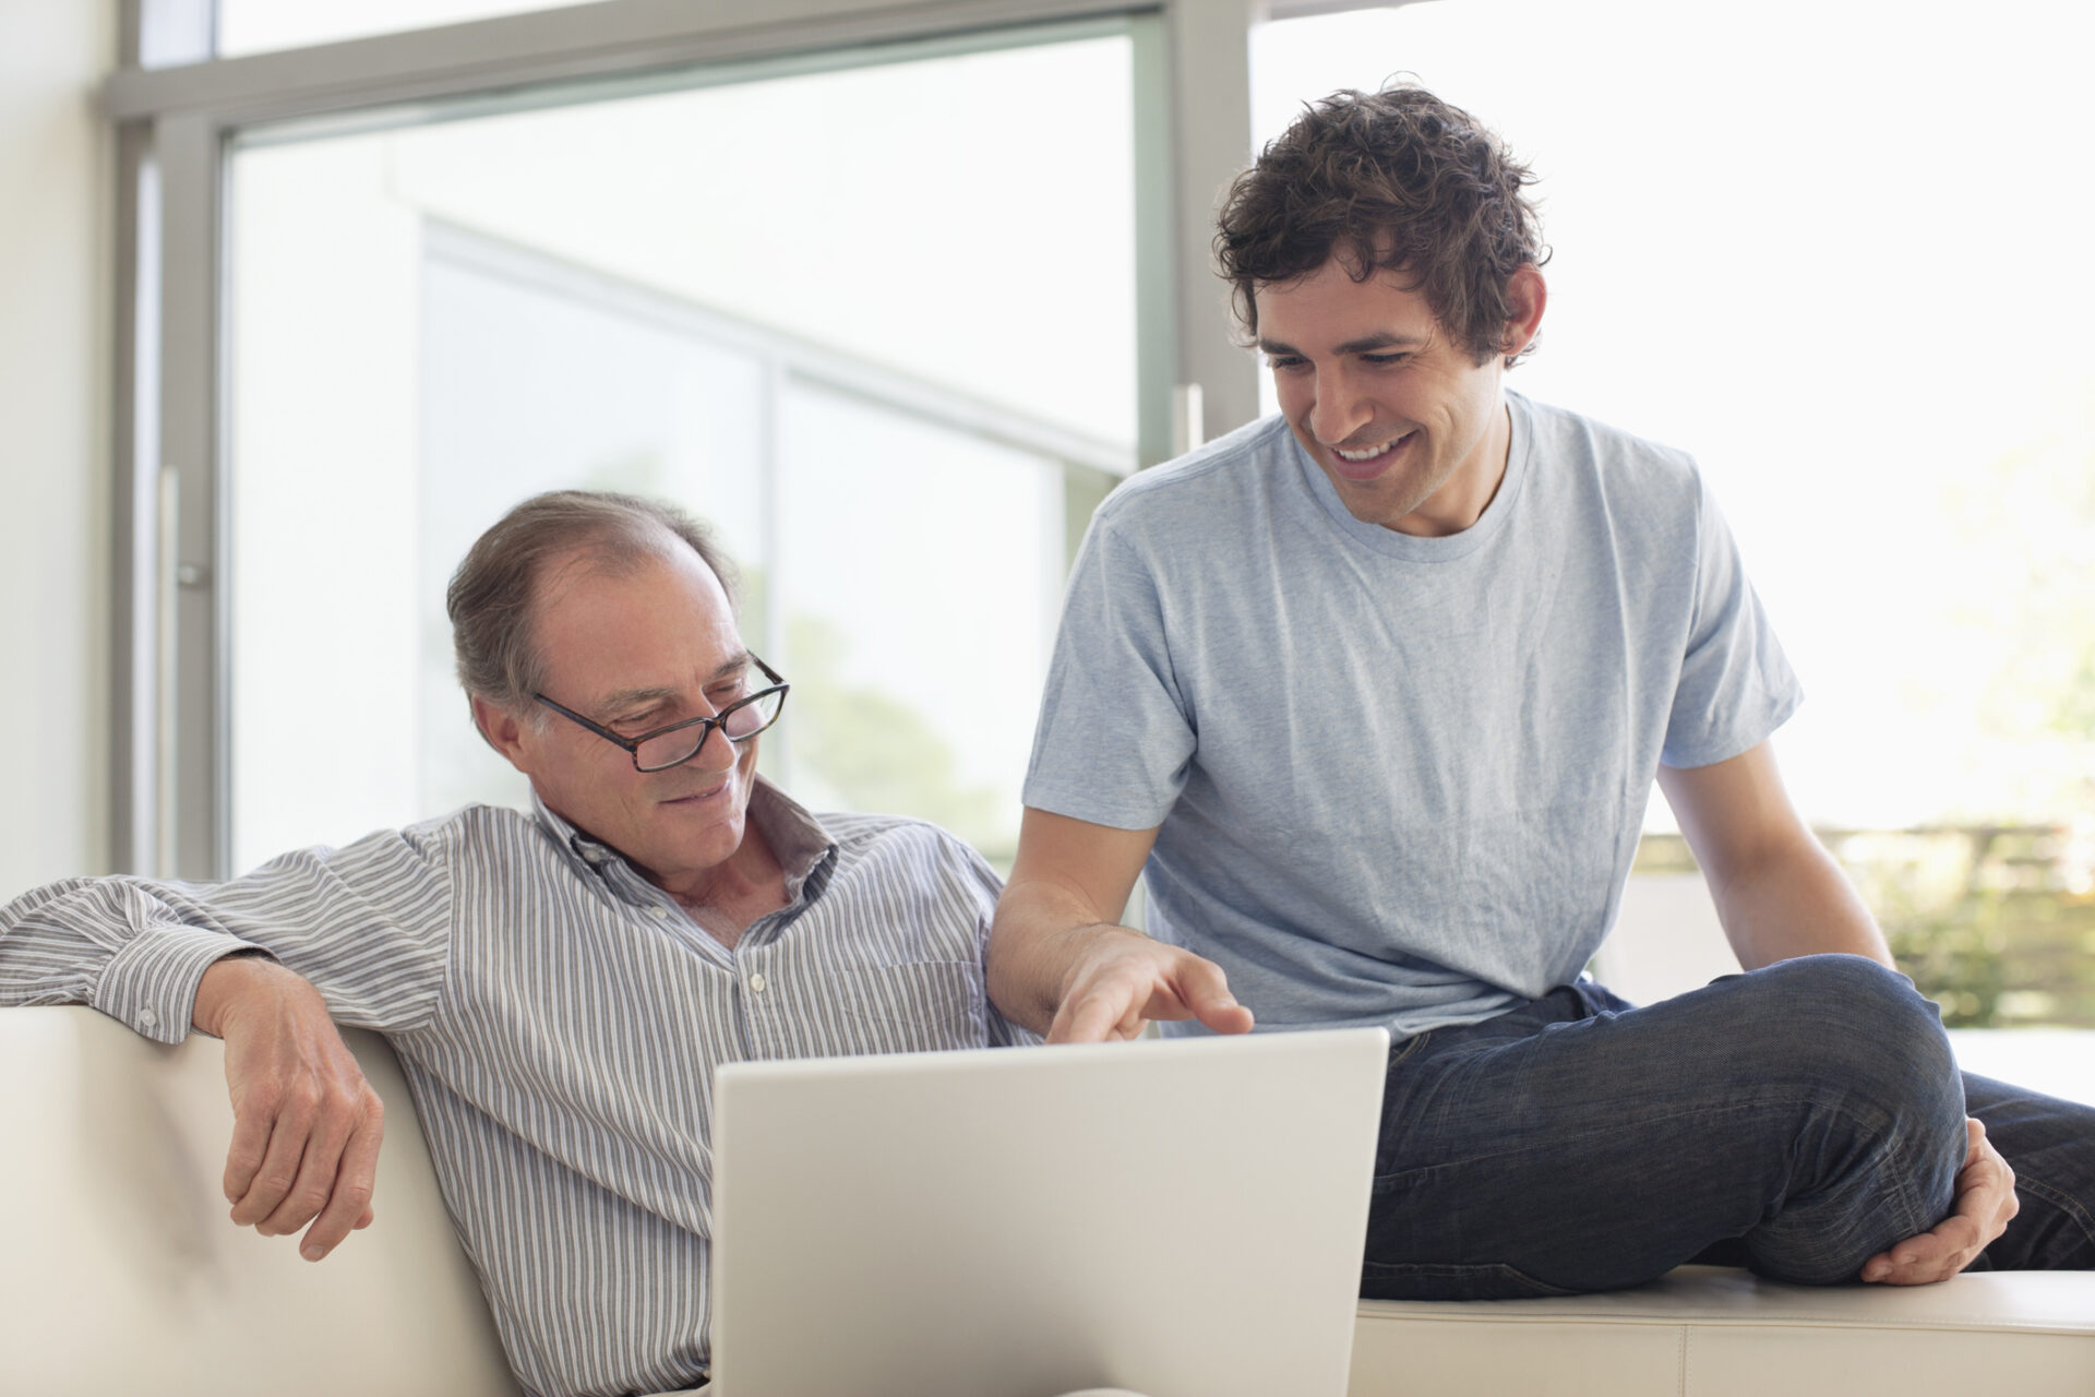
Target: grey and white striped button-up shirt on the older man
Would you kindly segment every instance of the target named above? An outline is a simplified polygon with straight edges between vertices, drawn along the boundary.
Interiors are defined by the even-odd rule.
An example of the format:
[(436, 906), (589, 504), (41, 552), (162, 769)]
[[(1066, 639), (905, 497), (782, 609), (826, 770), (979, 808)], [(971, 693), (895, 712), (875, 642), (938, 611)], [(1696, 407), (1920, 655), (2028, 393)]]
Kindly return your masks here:
[(163, 1043), (253, 947), (398, 1051), (450, 1217), (532, 1393), (708, 1366), (712, 1070), (1022, 1039), (983, 993), (997, 878), (918, 821), (758, 781), (790, 903), (729, 951), (536, 804), (467, 806), (224, 884), (71, 880), (0, 909), (0, 1005), (90, 1003)]

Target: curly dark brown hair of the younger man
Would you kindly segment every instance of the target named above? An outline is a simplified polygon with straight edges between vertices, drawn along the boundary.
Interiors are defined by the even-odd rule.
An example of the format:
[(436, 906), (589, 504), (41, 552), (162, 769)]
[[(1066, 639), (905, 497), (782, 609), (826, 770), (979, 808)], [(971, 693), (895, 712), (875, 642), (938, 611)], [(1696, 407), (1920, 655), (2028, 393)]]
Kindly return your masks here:
[(1339, 258), (1353, 281), (1414, 279), (1481, 364), (1502, 352), (1513, 272), (1548, 262), (1534, 182), (1498, 136), (1416, 84), (1332, 92), (1230, 184), (1215, 258), (1251, 337), (1259, 285)]

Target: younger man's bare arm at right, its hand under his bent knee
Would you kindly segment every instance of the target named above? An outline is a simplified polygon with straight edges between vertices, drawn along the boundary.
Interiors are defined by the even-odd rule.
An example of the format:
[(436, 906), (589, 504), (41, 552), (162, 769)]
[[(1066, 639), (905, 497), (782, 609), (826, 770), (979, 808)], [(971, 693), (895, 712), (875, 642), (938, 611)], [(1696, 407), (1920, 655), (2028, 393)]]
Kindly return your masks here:
[[(1659, 790), (1701, 863), (1741, 966), (1758, 970), (1823, 953), (1892, 966), (1869, 907), (1789, 802), (1768, 744), (1710, 767), (1659, 767)], [(1890, 1286), (1948, 1280), (2007, 1229), (2020, 1206), (2015, 1171), (1986, 1139), (1984, 1125), (1967, 1121), (1965, 1131), (1953, 1213), (1871, 1257), (1862, 1280)]]

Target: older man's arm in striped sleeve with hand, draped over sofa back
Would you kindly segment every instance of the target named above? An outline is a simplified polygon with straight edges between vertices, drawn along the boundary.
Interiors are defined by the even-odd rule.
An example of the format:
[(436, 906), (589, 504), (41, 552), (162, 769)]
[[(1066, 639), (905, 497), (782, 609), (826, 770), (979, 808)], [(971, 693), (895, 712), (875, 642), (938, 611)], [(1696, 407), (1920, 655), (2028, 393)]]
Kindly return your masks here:
[(434, 1014), (446, 850), (442, 831), (385, 831), (224, 884), (38, 888), (0, 907), (0, 1005), (86, 1003), (159, 1043), (193, 1026), (222, 1037), (233, 1219), (266, 1236), (306, 1227), (300, 1250), (316, 1261), (369, 1223), (383, 1137), (333, 1020), (388, 1033)]

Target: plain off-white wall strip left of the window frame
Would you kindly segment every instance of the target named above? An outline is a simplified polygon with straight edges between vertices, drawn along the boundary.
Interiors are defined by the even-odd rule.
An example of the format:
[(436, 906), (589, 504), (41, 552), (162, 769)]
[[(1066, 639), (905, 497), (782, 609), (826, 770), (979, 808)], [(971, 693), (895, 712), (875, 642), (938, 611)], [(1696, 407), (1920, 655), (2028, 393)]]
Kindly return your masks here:
[(0, 901), (109, 859), (115, 0), (0, 0)]

